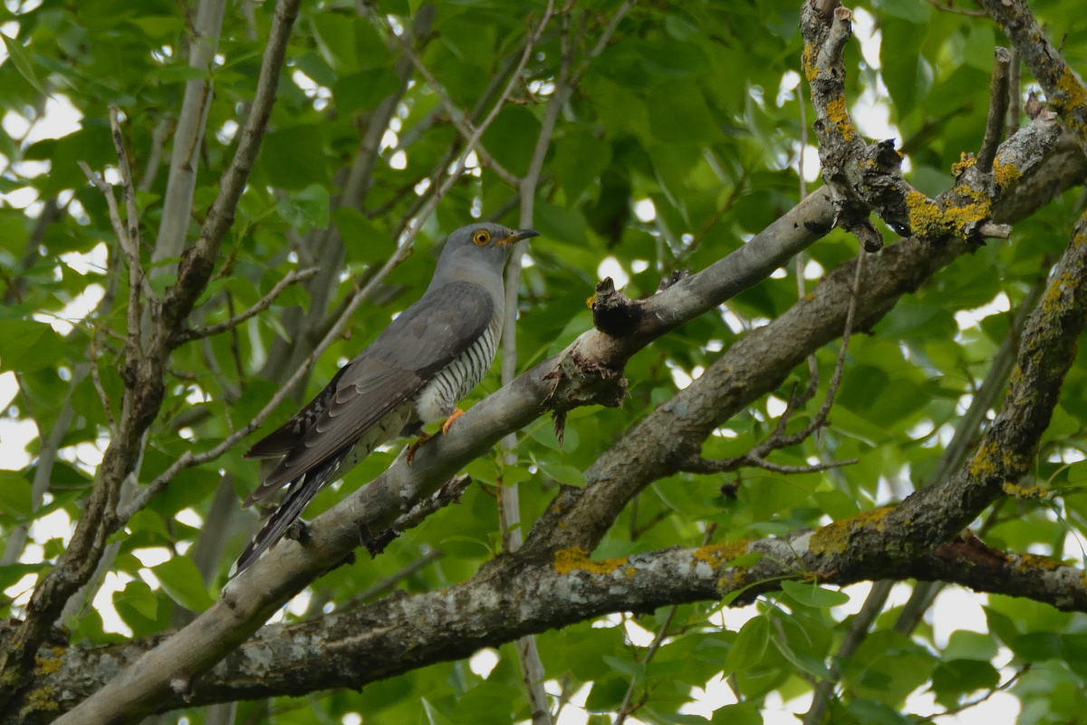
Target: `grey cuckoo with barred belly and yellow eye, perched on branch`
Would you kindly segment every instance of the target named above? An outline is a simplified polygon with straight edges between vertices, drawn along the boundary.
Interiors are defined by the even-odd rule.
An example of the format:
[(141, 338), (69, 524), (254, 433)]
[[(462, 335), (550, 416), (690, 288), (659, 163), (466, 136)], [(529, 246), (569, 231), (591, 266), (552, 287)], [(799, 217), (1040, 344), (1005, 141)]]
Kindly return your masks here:
[(502, 335), (502, 270), (513, 242), (539, 236), (479, 223), (446, 240), (423, 297), (368, 348), (339, 368), (324, 390), (246, 458), (278, 459), (243, 505), (283, 486), (283, 503), (235, 564), (239, 573), (279, 540), (305, 505), (371, 451), (424, 423), (457, 417), (457, 402), (495, 360)]

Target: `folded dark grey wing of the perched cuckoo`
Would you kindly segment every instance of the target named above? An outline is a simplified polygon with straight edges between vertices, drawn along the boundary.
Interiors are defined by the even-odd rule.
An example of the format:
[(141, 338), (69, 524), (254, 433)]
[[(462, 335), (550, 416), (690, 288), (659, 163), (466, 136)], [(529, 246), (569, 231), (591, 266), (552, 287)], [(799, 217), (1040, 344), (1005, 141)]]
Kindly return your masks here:
[(354, 445), (464, 352), (492, 315), (487, 291), (464, 282), (432, 290), (404, 310), (305, 409), (253, 446), (251, 457), (285, 455), (249, 502)]

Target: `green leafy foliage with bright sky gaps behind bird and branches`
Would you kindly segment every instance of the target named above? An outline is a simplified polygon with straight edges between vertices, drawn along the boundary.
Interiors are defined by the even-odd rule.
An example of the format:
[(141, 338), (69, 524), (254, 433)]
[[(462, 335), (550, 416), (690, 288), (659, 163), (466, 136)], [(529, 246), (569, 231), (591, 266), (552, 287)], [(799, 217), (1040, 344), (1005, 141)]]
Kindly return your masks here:
[[(811, 117), (798, 93), (799, 4), (632, 3), (597, 57), (591, 57), (596, 38), (621, 4), (584, 0), (569, 7), (580, 75), (553, 133), (536, 196), (534, 225), (542, 237), (532, 245), (522, 277), (518, 370), (561, 350), (591, 325), (585, 299), (602, 275), (625, 282), (630, 297), (648, 295), (662, 276), (704, 267), (797, 202)], [(420, 7), (378, 3), (380, 15), (401, 27)], [(2, 616), (18, 614), (37, 574), (64, 547), (68, 522), (79, 516), (120, 414), (120, 342), (112, 332), (125, 329), (125, 295), (116, 293), (125, 283), (116, 274), (103, 198), (76, 162), (95, 170), (115, 166), (107, 105), (117, 105), (140, 174), (142, 224), (153, 237), (166, 174), (165, 159), (155, 161), (152, 153), (168, 151), (184, 83), (193, 75), (179, 51), (191, 10), (161, 0), (9, 0), (0, 10), (9, 53), (0, 65), (0, 528), (7, 538), (29, 526), (25, 547), (9, 545), (4, 552)], [(1085, 67), (1080, 4), (1046, 0), (1033, 10), (1062, 42), (1069, 62)], [(497, 0), (442, 0), (420, 57), (459, 108), (474, 109), (490, 79), (509, 67), (526, 20), (542, 12), (540, 2), (513, 10)], [(911, 183), (935, 195), (950, 186), (950, 165), (960, 152), (980, 141), (991, 49), (1004, 41), (986, 18), (941, 12), (920, 0), (867, 2), (857, 12), (860, 42), (847, 50), (847, 64), (858, 122), (866, 134), (898, 138)], [(270, 22), (266, 3), (227, 9), (200, 148), (193, 230), (229, 162), (260, 64), (259, 38), (267, 35)], [(483, 136), (485, 148), (513, 174), (527, 170), (545, 102), (554, 92), (559, 35), (545, 36), (514, 92), (516, 102), (505, 105)], [(450, 163), (450, 149), (460, 148), (435, 89), (415, 74), (383, 134), (370, 188), (357, 203), (341, 203), (360, 137), (375, 109), (398, 88), (399, 52), (386, 40), (384, 28), (351, 3), (303, 7), (270, 133), (198, 318), (203, 324), (228, 318), (291, 270), (318, 265), (322, 272), (309, 285), (288, 288), (235, 334), (174, 353), (140, 480), (152, 479), (186, 450), (211, 448), (255, 415), (347, 295), (393, 252), (404, 220), (433, 191), (434, 183), (425, 179)], [(1029, 86), (1025, 77), (1023, 90)], [(60, 117), (75, 121), (59, 134), (50, 132), (51, 120)], [(810, 170), (816, 154), (811, 147), (804, 153)], [(116, 180), (115, 174), (108, 178)], [(436, 213), (420, 220), (414, 254), (358, 312), (350, 336), (320, 360), (305, 392), (315, 392), (415, 299), (429, 278), (434, 246), (448, 232), (480, 216), (514, 223), (516, 204), (508, 183), (471, 166)], [(1082, 207), (1079, 190), (1058, 197), (1016, 225), (1010, 243), (989, 243), (960, 259), (870, 334), (854, 336), (832, 424), (775, 460), (858, 458), (859, 463), (821, 474), (745, 470), (658, 482), (624, 513), (596, 555), (697, 546), (711, 529), (716, 540), (736, 540), (816, 526), (900, 499), (926, 482), (1008, 334), (1012, 312), (1045, 277)], [(337, 233), (342, 245), (329, 241), (326, 230)], [(854, 255), (855, 247), (840, 232), (813, 246), (802, 265), (808, 288)], [(162, 275), (155, 284), (168, 280)], [(521, 482), (522, 515), (530, 523), (557, 484), (577, 485), (580, 471), (632, 422), (697, 377), (746, 329), (787, 310), (797, 295), (796, 270), (779, 271), (720, 314), (653, 343), (630, 361), (629, 396), (621, 409), (575, 411), (562, 446), (550, 423), (537, 421), (517, 436), (516, 463), (504, 463), (497, 451), (473, 462), (467, 472), (476, 484), (460, 505), (432, 516), (380, 557), (318, 579), (279, 616), (290, 621), (357, 602), (375, 583), (421, 559), (425, 565), (395, 586), (433, 590), (471, 576), (501, 548), (497, 486)], [(823, 380), (836, 354), (834, 346), (819, 353)], [(1033, 483), (1047, 496), (1000, 504), (985, 522), (988, 543), (1082, 562), (1085, 380), (1087, 367), (1079, 361), (1034, 472)], [(776, 396), (722, 427), (703, 453), (721, 458), (750, 449), (772, 430), (790, 386), (805, 382), (807, 371), (798, 368)], [(499, 384), (496, 365), (467, 402)], [(273, 420), (286, 417), (302, 397), (285, 403)], [(46, 461), (43, 441), (53, 434), (59, 438), (45, 448), (54, 449), (57, 459)], [(257, 477), (242, 450), (236, 447), (178, 475), (129, 522), (96, 582), (98, 595), (88, 592), (68, 613), (73, 641), (147, 636), (184, 623), (189, 611), (212, 601), (255, 525), (251, 513), (237, 510)], [(310, 513), (370, 480), (397, 452), (372, 455), (318, 496)], [(51, 466), (49, 488), (35, 500), (32, 482), (42, 465)], [(216, 496), (226, 503), (216, 507)], [(1008, 688), (1014, 699), (999, 693), (974, 710), (987, 712), (990, 722), (1012, 722), (1016, 709), (1021, 723), (1080, 722), (1087, 708), (1082, 614), (976, 596), (972, 601), (984, 607), (984, 617), (964, 620), (952, 611), (966, 605), (961, 592), (946, 592), (947, 604), (937, 605), (935, 616), (903, 634), (895, 623), (909, 587), (899, 585), (854, 657), (836, 663), (848, 697), (836, 705), (834, 722), (916, 722), (900, 713), (957, 711), (1015, 673), (1020, 676)], [(553, 704), (574, 698), (590, 712), (612, 711), (634, 680), (641, 721), (703, 722), (676, 713), (686, 705), (709, 716), (709, 707), (691, 709), (691, 702), (696, 688), (712, 682), (719, 697), (729, 688), (735, 693), (724, 701), (739, 699), (717, 709), (713, 722), (784, 722), (774, 711), (783, 701), (803, 698), (810, 677), (826, 673), (847, 613), (858, 609), (863, 591), (851, 589), (846, 605), (845, 597), (794, 584), (739, 612), (707, 602), (680, 607), (674, 615), (669, 610), (615, 615), (547, 633), (537, 640)], [(647, 632), (657, 632), (666, 618), (671, 636), (647, 666)], [(478, 674), (484, 663), (496, 661), (489, 674)], [(367, 723), (527, 720), (512, 647), (498, 650), (497, 660), (473, 662), (434, 665), (361, 692), (240, 703), (236, 722), (359, 722), (349, 713), (365, 713)], [(177, 712), (162, 722), (179, 718), (202, 723), (205, 713)], [(592, 718), (610, 722), (602, 714)]]

